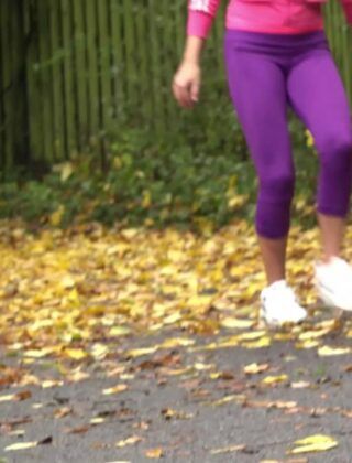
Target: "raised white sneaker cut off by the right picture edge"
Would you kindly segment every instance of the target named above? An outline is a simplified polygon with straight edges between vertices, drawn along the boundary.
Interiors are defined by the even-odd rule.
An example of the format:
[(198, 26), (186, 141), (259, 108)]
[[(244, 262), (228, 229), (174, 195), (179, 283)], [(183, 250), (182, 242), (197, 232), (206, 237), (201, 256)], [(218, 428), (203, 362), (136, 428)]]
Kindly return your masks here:
[(332, 308), (352, 311), (352, 267), (340, 257), (315, 263), (315, 284), (322, 301)]

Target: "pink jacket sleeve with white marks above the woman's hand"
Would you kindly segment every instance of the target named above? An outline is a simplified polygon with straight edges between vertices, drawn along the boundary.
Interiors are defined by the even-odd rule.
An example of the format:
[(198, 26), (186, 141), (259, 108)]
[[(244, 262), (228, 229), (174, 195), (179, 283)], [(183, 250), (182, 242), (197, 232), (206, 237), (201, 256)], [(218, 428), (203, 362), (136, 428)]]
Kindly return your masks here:
[(207, 39), (220, 2), (221, 0), (188, 0), (187, 35)]

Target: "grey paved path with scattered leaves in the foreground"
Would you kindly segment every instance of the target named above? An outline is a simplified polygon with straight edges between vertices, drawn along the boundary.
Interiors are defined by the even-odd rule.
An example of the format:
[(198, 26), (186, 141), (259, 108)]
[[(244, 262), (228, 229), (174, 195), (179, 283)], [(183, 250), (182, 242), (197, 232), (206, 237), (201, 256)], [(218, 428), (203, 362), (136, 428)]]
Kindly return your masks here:
[[(352, 462), (351, 355), (321, 357), (317, 348), (297, 349), (285, 340), (261, 348), (216, 344), (231, 336), (229, 331), (213, 336), (164, 331), (125, 338), (123, 346), (110, 344), (107, 358), (85, 364), (80, 372), (89, 374), (86, 379), (65, 380), (63, 386), (44, 383), (52, 387), (2, 387), (0, 462), (139, 463), (153, 455), (165, 462), (196, 463)], [(179, 345), (186, 344), (179, 342), (185, 337), (195, 344)], [(178, 340), (173, 347), (128, 354), (169, 338)], [(349, 346), (349, 338), (337, 332), (323, 343)], [(244, 366), (252, 363), (262, 365), (263, 372), (245, 374)], [(20, 365), (41, 380), (67, 378), (47, 358), (23, 364), (2, 351), (1, 364), (3, 372)], [(73, 369), (75, 363), (66, 366)], [(267, 376), (276, 380), (279, 376), (282, 381), (264, 384)], [(102, 392), (118, 384), (128, 389)], [(22, 400), (1, 401), (18, 391)], [(320, 433), (334, 438), (338, 446), (320, 453), (286, 453), (297, 439)], [(141, 440), (117, 446), (131, 437)], [(31, 441), (42, 444), (6, 451)]]

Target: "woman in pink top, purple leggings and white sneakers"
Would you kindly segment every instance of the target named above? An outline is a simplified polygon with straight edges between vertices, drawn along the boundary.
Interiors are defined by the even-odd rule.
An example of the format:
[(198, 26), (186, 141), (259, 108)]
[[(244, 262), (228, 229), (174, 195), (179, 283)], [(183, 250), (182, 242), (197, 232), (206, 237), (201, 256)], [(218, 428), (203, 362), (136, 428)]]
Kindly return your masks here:
[[(290, 105), (319, 154), (317, 215), (321, 258), (314, 263), (322, 301), (352, 310), (352, 267), (341, 257), (352, 187), (348, 97), (323, 29), (327, 0), (230, 0), (224, 57), (229, 90), (258, 176), (255, 228), (267, 286), (261, 316), (270, 325), (306, 319), (286, 282), (286, 245), (295, 170), (287, 125)], [(199, 99), (200, 56), (220, 0), (189, 0), (187, 41), (174, 80), (180, 106)], [(341, 0), (352, 24), (352, 0)]]

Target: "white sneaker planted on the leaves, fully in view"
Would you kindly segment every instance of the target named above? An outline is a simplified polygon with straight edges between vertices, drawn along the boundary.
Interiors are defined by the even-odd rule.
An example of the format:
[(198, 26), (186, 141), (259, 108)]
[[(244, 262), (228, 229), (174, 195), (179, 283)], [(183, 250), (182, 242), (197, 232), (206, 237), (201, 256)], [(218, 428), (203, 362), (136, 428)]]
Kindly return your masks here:
[(299, 323), (307, 317), (307, 311), (299, 305), (293, 289), (285, 280), (278, 280), (261, 292), (261, 319), (272, 326)]

